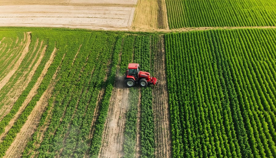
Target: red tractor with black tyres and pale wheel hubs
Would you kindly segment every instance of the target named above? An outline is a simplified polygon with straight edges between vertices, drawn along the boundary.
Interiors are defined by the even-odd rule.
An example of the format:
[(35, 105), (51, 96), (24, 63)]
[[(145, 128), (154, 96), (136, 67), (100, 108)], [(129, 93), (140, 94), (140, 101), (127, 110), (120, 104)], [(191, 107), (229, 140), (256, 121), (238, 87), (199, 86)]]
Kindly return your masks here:
[(128, 70), (125, 73), (125, 84), (127, 87), (133, 87), (135, 84), (140, 84), (141, 87), (147, 85), (155, 85), (157, 82), (155, 77), (151, 77), (150, 73), (140, 71), (140, 65), (136, 63), (129, 63)]

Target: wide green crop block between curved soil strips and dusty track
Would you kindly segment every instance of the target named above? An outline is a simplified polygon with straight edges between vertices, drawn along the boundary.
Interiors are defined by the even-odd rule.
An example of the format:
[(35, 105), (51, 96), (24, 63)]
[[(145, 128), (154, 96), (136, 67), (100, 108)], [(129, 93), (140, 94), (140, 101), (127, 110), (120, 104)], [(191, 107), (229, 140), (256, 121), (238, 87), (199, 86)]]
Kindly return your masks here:
[[(49, 125), (42, 141), (38, 139), (39, 133), (34, 134), (24, 151), (26, 157), (32, 151), (38, 152), (38, 156), (84, 156), (90, 150), (91, 122), (116, 36), (86, 32), (73, 35), (74, 38), (63, 34), (55, 39), (58, 51), (54, 62), (59, 65), (58, 80), (42, 115), (42, 122)], [(51, 65), (49, 69), (52, 68)], [(50, 122), (45, 122), (47, 116), (50, 116)], [(40, 123), (38, 129), (44, 124)]]

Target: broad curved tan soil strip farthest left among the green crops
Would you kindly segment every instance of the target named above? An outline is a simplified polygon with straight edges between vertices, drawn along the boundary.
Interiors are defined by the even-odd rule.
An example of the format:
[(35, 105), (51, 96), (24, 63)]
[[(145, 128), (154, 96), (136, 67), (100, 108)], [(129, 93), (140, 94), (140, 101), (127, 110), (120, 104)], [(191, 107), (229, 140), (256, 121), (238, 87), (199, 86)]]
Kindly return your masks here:
[(28, 53), (29, 51), (29, 45), (31, 43), (31, 32), (27, 32), (27, 42), (25, 43), (25, 48), (21, 53), (21, 56), (19, 57), (19, 59), (17, 60), (17, 62), (15, 63), (13, 69), (0, 81), (0, 90), (3, 88), (4, 85), (6, 85), (6, 83), (10, 80), (10, 77), (13, 76), (13, 74), (15, 73), (15, 71), (18, 69), (18, 67), (20, 66), (21, 62), (23, 61), (25, 55)]

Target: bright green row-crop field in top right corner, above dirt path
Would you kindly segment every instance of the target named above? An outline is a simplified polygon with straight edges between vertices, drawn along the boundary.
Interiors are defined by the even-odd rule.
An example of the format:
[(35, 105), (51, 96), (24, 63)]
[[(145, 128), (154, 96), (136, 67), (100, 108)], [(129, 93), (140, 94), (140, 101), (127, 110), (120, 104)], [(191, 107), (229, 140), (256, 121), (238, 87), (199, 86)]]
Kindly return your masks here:
[(166, 0), (170, 28), (275, 26), (273, 0)]

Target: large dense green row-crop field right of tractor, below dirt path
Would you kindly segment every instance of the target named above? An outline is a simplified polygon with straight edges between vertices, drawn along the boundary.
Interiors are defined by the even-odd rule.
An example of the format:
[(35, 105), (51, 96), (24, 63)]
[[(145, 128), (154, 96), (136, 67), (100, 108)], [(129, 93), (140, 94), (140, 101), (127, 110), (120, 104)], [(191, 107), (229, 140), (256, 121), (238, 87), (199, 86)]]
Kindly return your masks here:
[(275, 157), (275, 30), (165, 38), (173, 156)]

